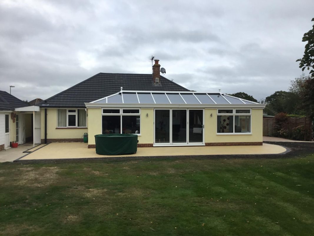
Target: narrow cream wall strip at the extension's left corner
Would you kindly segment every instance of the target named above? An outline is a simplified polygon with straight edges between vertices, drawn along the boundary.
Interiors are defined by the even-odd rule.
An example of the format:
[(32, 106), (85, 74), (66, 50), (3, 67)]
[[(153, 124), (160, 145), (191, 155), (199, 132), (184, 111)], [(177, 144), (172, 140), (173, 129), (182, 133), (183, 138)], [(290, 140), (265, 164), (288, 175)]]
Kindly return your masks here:
[(95, 144), (95, 135), (102, 133), (101, 108), (88, 108), (88, 144)]

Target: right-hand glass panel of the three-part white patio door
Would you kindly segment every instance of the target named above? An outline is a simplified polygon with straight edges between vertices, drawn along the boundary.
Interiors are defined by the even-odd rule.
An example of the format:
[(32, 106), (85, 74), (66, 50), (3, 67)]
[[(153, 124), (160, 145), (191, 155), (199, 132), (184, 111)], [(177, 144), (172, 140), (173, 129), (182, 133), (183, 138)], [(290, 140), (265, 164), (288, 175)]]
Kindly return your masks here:
[(189, 143), (203, 143), (203, 110), (189, 110)]

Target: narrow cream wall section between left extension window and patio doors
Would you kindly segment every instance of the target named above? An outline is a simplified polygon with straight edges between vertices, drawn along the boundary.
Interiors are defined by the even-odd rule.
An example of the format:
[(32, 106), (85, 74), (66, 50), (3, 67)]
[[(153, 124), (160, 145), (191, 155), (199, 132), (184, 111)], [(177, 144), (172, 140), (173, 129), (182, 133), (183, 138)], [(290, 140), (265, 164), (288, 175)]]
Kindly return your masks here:
[(154, 143), (153, 108), (141, 108), (141, 135), (138, 136), (138, 143)]

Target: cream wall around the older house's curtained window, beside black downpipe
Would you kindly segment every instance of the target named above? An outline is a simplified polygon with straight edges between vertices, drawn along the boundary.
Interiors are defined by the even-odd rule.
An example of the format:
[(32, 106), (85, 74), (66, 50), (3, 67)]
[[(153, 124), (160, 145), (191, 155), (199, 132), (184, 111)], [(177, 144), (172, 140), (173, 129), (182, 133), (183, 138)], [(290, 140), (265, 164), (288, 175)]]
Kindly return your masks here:
[[(57, 108), (47, 108), (47, 139), (82, 138), (87, 128), (57, 128)], [(41, 139), (45, 138), (45, 109), (41, 109)]]

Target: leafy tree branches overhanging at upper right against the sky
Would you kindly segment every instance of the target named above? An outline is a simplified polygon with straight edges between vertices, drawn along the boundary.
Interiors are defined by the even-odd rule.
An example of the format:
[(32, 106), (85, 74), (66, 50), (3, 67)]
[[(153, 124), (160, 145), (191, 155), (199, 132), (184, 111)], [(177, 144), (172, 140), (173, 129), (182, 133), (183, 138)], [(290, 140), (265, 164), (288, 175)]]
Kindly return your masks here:
[[(311, 20), (314, 21), (314, 18)], [(314, 78), (314, 25), (311, 30), (303, 35), (302, 42), (307, 42), (305, 45), (304, 55), (301, 59), (297, 59), (296, 61), (300, 61), (300, 68), (302, 71), (307, 68), (310, 70), (310, 76)]]

